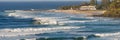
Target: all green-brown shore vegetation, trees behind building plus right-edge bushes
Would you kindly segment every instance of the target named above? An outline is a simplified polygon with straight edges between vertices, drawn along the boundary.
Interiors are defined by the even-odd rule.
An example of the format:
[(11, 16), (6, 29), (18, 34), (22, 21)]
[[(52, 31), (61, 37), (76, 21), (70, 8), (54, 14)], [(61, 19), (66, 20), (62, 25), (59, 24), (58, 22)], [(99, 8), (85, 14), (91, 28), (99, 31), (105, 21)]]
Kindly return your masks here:
[(97, 4), (97, 0), (90, 0), (90, 2), (84, 2), (80, 5), (73, 6), (63, 6), (59, 9), (68, 10), (74, 9), (78, 10), (81, 6), (96, 5), (97, 10), (106, 10), (106, 12), (99, 16), (104, 17), (120, 17), (120, 0), (101, 0), (101, 4)]

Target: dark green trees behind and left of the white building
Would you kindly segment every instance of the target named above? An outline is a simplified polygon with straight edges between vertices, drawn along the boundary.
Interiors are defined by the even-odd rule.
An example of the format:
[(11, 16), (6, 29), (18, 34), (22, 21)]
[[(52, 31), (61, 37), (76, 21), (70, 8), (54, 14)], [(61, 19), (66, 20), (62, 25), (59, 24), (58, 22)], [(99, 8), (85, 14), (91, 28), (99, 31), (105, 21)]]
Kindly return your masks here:
[(96, 6), (97, 9), (101, 9), (101, 5), (97, 5), (97, 0), (90, 0), (90, 2), (83, 2), (80, 5), (62, 6), (59, 7), (59, 9), (69, 10), (72, 8), (74, 10), (78, 10), (81, 6), (88, 6), (88, 5)]

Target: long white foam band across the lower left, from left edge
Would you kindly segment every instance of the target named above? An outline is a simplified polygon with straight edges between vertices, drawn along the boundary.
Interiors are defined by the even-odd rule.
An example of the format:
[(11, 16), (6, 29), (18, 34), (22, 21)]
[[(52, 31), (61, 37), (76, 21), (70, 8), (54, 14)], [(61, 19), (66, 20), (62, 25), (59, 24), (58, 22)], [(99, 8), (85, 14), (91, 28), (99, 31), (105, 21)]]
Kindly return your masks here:
[(30, 34), (69, 31), (70, 29), (78, 29), (78, 28), (80, 28), (80, 27), (1, 29), (0, 30), (0, 37), (25, 36), (25, 35), (30, 35)]

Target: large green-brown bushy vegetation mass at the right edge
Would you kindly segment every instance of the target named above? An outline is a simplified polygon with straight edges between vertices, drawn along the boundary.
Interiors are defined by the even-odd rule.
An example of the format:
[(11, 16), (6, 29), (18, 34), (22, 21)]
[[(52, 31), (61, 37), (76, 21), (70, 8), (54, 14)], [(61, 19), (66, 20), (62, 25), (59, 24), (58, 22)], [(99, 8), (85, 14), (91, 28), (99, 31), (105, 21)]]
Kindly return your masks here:
[(104, 17), (120, 17), (120, 0), (113, 0), (107, 12), (102, 14)]

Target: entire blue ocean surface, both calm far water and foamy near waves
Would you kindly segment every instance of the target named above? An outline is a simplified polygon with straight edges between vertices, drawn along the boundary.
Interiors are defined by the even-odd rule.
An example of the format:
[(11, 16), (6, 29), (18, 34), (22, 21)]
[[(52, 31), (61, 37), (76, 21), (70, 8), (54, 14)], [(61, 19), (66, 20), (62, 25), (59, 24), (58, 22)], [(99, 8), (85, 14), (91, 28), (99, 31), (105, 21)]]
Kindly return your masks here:
[[(0, 2), (0, 10), (56, 9), (75, 4), (80, 2)], [(0, 40), (120, 40), (120, 18), (46, 11), (0, 12)]]

